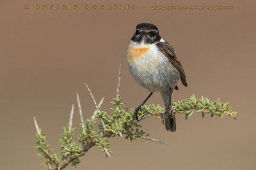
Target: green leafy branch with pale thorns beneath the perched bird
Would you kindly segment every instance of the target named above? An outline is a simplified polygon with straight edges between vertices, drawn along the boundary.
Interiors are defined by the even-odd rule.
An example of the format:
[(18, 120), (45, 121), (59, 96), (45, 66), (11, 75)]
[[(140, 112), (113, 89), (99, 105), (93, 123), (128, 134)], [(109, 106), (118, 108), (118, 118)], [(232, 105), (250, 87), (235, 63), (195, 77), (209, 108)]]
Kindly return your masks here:
[[(125, 139), (130, 139), (130, 141), (140, 139), (140, 141), (150, 140), (164, 143), (158, 139), (149, 138), (149, 134), (141, 129), (141, 125), (138, 124), (138, 120), (136, 120), (134, 117), (134, 110), (128, 110), (128, 108), (125, 108), (125, 103), (123, 103), (122, 98), (120, 98), (120, 73), (121, 72), (119, 69), (116, 98), (113, 98), (113, 101), (111, 101), (113, 106), (113, 108), (111, 108), (111, 115), (108, 115), (106, 111), (102, 111), (100, 109), (100, 105), (102, 104), (104, 98), (102, 98), (100, 103), (97, 104), (91, 90), (89, 89), (88, 85), (85, 84), (90, 96), (92, 97), (95, 111), (92, 117), (84, 120), (79, 95), (77, 93), (77, 105), (79, 108), (79, 116), (81, 118), (80, 134), (76, 137), (74, 134), (76, 128), (72, 128), (72, 119), (74, 116), (73, 104), (70, 112), (69, 124), (63, 127), (64, 132), (61, 134), (60, 153), (52, 153), (50, 146), (46, 143), (45, 132), (38, 127), (34, 117), (37, 139), (37, 145), (35, 148), (38, 149), (38, 156), (41, 159), (44, 159), (43, 165), (45, 167), (52, 169), (51, 165), (54, 165), (56, 166), (54, 168), (56, 170), (64, 169), (69, 164), (76, 167), (80, 162), (79, 158), (85, 155), (85, 153), (95, 145), (100, 148), (100, 151), (106, 153), (106, 157), (111, 157), (110, 154), (112, 152), (110, 150), (110, 143), (108, 139), (115, 136), (120, 136), (120, 138), (123, 138), (123, 135), (125, 135)], [(154, 104), (142, 106), (141, 111), (139, 111), (139, 120), (143, 120), (150, 116), (155, 116), (161, 120), (161, 114), (163, 111), (164, 108), (159, 106), (159, 104), (157, 104), (157, 106)], [(229, 103), (221, 103), (220, 99), (213, 102), (206, 97), (196, 99), (195, 95), (189, 99), (184, 99), (182, 101), (178, 101), (177, 103), (173, 103), (171, 111), (172, 113), (184, 114), (186, 119), (191, 117), (195, 111), (202, 113), (202, 117), (204, 117), (207, 113), (211, 113), (211, 117), (216, 115), (217, 117), (221, 116), (221, 118), (223, 118), (224, 115), (228, 115), (236, 119), (237, 114), (236, 112), (232, 111)], [(98, 124), (98, 127), (95, 127), (97, 122), (100, 124)], [(98, 129), (97, 131), (99, 132), (96, 132), (96, 129)]]

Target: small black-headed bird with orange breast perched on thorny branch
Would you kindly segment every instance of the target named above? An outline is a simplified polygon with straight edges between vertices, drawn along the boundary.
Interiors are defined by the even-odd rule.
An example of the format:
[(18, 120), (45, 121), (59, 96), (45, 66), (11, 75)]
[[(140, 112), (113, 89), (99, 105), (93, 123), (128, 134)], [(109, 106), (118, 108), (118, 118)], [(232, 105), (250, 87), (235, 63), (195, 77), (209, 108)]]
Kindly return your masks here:
[(165, 106), (165, 111), (161, 115), (163, 124), (165, 120), (166, 131), (175, 132), (175, 114), (171, 113), (173, 89), (179, 89), (177, 86), (179, 80), (185, 87), (188, 87), (188, 84), (173, 47), (161, 38), (156, 25), (141, 23), (136, 25), (136, 32), (131, 38), (126, 59), (133, 78), (150, 92), (143, 103), (134, 110), (136, 119), (138, 120), (141, 106), (154, 92), (160, 92)]

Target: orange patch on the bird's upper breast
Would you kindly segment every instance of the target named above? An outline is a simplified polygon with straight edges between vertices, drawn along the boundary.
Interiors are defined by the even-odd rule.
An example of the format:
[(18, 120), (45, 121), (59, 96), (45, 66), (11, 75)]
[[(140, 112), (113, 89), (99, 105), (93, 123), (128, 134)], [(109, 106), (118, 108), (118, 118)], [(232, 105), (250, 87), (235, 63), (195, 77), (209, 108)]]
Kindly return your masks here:
[(136, 60), (140, 59), (145, 54), (147, 54), (149, 50), (150, 47), (129, 46), (128, 59), (131, 63), (134, 63), (136, 62)]

